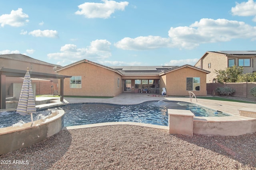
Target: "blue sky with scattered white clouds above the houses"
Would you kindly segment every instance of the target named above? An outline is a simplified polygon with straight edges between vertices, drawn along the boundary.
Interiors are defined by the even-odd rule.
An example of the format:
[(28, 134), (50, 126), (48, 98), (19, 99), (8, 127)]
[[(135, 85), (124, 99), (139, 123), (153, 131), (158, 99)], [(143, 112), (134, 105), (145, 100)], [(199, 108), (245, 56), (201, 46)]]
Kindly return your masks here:
[(0, 1), (0, 54), (65, 66), (194, 65), (256, 49), (254, 0)]

